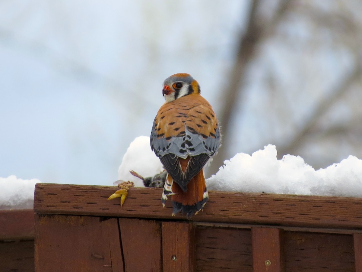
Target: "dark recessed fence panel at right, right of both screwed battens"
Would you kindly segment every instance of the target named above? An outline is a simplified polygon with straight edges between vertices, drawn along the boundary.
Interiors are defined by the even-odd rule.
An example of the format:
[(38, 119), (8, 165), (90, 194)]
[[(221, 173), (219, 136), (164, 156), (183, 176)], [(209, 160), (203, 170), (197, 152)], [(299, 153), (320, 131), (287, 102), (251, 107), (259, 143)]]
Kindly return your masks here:
[(285, 231), (285, 270), (354, 272), (352, 235)]

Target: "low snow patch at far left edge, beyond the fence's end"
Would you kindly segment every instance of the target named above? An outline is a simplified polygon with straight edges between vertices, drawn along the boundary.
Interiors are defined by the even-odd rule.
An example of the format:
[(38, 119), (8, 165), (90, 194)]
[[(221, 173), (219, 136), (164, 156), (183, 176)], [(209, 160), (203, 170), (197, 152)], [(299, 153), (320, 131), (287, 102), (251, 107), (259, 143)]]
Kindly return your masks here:
[(33, 209), (34, 187), (39, 180), (22, 180), (14, 175), (0, 177), (0, 210)]

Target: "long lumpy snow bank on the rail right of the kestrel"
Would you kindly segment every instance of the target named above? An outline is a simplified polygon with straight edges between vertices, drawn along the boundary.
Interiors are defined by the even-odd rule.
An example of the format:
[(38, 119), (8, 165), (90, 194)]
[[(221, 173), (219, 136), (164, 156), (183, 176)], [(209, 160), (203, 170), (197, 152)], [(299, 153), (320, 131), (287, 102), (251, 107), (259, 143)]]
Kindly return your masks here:
[(224, 161), (207, 181), (209, 190), (362, 197), (362, 160), (349, 156), (315, 170), (299, 156), (277, 159), (275, 145)]

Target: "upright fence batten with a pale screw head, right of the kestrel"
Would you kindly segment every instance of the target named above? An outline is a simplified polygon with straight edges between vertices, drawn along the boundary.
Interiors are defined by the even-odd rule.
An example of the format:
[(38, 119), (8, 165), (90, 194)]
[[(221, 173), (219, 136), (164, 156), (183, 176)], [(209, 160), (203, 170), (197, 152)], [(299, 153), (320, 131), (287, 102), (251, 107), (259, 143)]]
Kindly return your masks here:
[(284, 271), (283, 231), (279, 228), (252, 227), (253, 271)]

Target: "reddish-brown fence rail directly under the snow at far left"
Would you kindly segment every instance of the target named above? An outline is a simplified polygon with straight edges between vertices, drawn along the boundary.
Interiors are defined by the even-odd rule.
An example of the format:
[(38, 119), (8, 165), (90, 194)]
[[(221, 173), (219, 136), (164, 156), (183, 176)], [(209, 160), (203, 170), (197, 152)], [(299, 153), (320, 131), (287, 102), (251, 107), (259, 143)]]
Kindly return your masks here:
[(34, 210), (0, 210), (0, 240), (34, 239)]

